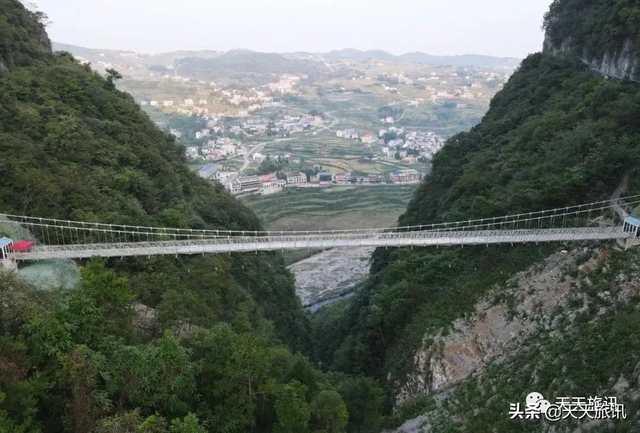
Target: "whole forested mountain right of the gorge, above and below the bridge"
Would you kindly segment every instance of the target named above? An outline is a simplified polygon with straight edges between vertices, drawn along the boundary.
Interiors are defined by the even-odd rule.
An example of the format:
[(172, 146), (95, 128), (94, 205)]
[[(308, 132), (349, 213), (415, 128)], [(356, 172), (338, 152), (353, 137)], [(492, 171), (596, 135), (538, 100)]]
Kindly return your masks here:
[[(546, 17), (547, 39), (584, 43), (593, 55), (626, 47), (629, 57), (637, 58), (640, 51), (628, 42), (639, 34), (637, 13), (634, 1), (557, 0)], [(589, 51), (590, 41), (596, 40), (600, 47)], [(580, 54), (547, 50), (525, 59), (482, 123), (449, 139), (437, 154), (431, 175), (399, 225), (608, 199), (623, 175), (640, 164), (640, 86), (628, 79), (605, 79)], [(631, 182), (636, 193), (639, 186), (637, 179)], [(532, 391), (545, 396), (615, 394), (618, 380), (637, 386), (640, 362), (637, 321), (629, 323), (640, 293), (635, 277), (629, 277), (637, 275), (637, 254), (612, 252), (610, 246), (578, 254), (580, 246), (565, 251), (580, 259), (555, 269), (552, 265), (562, 255), (547, 257), (558, 248), (569, 247), (379, 250), (371, 276), (345, 315), (326, 310), (326, 320), (316, 320), (318, 356), (332, 369), (385, 381), (398, 413), (427, 413), (422, 421), (432, 431), (541, 431), (539, 423), (509, 423), (509, 402), (524, 401)], [(611, 257), (610, 262), (601, 257), (593, 259), (593, 268), (580, 266), (602, 255)], [(547, 285), (532, 282), (536, 269), (543, 270), (540, 278)], [(536, 290), (555, 287), (554, 272), (573, 291), (536, 298), (536, 307), (518, 316), (520, 308), (533, 304)], [(609, 274), (603, 276), (605, 272)], [(558, 281), (559, 288), (565, 287)], [(620, 289), (624, 282), (629, 282), (625, 295)], [(598, 301), (604, 291), (613, 297), (606, 306)], [(554, 303), (558, 298), (566, 303)], [(487, 319), (493, 307), (511, 313)], [(529, 316), (536, 320), (529, 323)], [(630, 333), (624, 333), (625, 327)], [(518, 334), (502, 335), (503, 328), (521, 330), (524, 341), (516, 347)], [(624, 337), (596, 342), (619, 333)], [(496, 346), (513, 352), (498, 355)], [(492, 364), (498, 356), (500, 362)], [(570, 373), (563, 364), (571, 365)], [(473, 367), (456, 376), (460, 365)], [(550, 376), (554, 368), (556, 375)], [(624, 389), (616, 388), (620, 395)], [(630, 431), (625, 429), (638, 425), (637, 404), (627, 395), (632, 421), (603, 424), (598, 431)], [(401, 403), (411, 398), (418, 400), (403, 408)], [(556, 427), (574, 431), (576, 424)]]

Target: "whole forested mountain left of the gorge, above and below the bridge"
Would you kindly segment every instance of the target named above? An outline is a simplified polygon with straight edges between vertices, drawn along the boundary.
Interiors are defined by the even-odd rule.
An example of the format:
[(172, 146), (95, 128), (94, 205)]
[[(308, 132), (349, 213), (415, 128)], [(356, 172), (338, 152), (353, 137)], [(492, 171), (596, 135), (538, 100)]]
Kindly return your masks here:
[[(53, 54), (41, 18), (0, 0), (1, 212), (260, 229), (221, 186), (189, 171), (183, 148), (116, 90), (116, 71), (103, 78)], [(79, 287), (62, 291), (0, 275), (0, 431), (338, 432), (379, 423), (374, 382), (323, 375), (306, 357), (307, 319), (278, 254), (81, 265)]]

